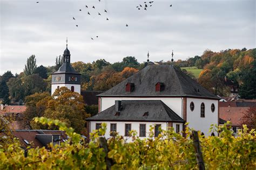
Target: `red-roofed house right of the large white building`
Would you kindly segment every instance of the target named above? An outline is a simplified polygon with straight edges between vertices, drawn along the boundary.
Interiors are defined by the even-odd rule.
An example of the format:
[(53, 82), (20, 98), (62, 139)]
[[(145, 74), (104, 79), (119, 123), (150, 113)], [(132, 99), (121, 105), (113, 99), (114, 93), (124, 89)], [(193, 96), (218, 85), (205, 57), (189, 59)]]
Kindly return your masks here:
[(219, 102), (219, 115), (225, 121), (231, 121), (231, 130), (234, 135), (242, 128), (242, 117), (250, 108), (256, 107), (256, 100), (234, 100), (229, 102)]

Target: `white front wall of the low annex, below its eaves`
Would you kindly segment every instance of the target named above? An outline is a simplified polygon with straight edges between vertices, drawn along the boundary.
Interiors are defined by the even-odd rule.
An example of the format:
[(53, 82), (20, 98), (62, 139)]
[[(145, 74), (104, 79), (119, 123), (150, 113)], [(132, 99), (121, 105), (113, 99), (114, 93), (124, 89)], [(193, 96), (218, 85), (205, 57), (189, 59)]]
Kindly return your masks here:
[[(110, 138), (110, 124), (117, 124), (117, 132), (119, 135), (124, 136), (125, 135), (125, 124), (131, 124), (131, 129), (137, 131), (137, 135), (139, 137), (139, 124), (146, 124), (146, 137), (139, 137), (140, 139), (144, 139), (149, 137), (150, 132), (150, 126), (152, 125), (154, 127), (155, 124), (160, 124), (162, 130), (166, 130), (168, 127), (167, 123), (163, 122), (131, 122), (131, 121), (90, 121), (90, 132), (93, 130), (96, 130), (96, 123), (106, 123), (106, 139)], [(182, 125), (180, 125), (182, 127)], [(154, 130), (153, 130), (154, 132)], [(131, 137), (124, 137), (124, 139), (127, 139), (127, 142), (131, 142)]]

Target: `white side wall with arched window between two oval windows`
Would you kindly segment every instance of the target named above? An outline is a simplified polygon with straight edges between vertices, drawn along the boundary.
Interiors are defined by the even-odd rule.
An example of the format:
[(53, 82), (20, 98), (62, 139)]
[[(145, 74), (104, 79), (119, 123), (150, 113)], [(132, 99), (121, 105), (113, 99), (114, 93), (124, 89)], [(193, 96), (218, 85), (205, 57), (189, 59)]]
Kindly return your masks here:
[[(191, 101), (194, 103), (193, 111), (190, 110)], [(201, 103), (205, 104), (204, 118), (200, 117)], [(211, 111), (212, 103), (215, 105), (214, 112)], [(218, 100), (187, 98), (187, 122), (188, 127), (201, 131), (205, 135), (211, 135), (208, 133), (211, 124), (218, 125)], [(217, 135), (216, 132), (215, 135)]]

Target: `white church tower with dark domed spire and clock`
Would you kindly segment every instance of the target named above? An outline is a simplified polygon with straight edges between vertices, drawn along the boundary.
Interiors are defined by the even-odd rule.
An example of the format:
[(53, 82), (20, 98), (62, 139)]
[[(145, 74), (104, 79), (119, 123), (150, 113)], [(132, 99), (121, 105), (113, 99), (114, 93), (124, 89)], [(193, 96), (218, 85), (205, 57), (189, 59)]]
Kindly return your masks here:
[(69, 90), (80, 94), (81, 74), (77, 73), (70, 64), (70, 51), (68, 49), (68, 39), (66, 49), (63, 54), (63, 64), (59, 70), (51, 74), (51, 94), (60, 87), (68, 87)]

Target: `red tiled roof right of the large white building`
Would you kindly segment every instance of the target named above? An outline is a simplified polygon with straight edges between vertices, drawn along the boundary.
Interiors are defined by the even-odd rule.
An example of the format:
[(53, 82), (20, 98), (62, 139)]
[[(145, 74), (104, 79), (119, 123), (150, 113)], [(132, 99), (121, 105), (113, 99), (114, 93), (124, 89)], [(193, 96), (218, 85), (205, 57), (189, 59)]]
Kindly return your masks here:
[(241, 118), (250, 107), (219, 107), (221, 119), (231, 121), (232, 126), (240, 126)]

